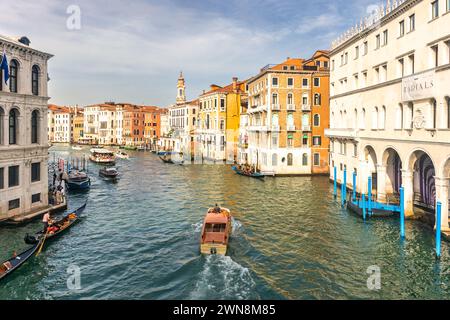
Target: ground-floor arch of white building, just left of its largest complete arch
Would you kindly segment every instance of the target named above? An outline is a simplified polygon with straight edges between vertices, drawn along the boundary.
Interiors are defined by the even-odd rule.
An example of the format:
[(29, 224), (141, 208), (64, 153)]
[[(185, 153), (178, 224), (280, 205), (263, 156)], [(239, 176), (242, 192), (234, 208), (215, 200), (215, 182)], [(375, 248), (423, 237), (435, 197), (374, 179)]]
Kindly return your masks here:
[(402, 186), (402, 161), (397, 151), (388, 148), (383, 154), (383, 166), (386, 167), (386, 200), (388, 203), (399, 202)]

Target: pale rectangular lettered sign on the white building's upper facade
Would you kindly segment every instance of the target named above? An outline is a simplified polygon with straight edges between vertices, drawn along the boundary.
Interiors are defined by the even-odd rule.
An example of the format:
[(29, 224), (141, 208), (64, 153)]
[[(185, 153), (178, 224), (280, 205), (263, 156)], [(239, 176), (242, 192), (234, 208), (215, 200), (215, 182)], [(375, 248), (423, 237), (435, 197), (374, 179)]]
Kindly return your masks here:
[(403, 78), (402, 101), (433, 98), (436, 85), (434, 75), (433, 70)]

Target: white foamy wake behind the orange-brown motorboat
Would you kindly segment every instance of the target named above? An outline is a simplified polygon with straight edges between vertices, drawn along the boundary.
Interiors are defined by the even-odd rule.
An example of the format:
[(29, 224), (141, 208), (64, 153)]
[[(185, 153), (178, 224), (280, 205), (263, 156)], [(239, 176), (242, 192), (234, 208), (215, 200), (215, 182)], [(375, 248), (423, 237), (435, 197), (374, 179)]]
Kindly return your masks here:
[(203, 269), (198, 274), (190, 299), (259, 299), (255, 286), (249, 269), (228, 256), (210, 255), (204, 258)]

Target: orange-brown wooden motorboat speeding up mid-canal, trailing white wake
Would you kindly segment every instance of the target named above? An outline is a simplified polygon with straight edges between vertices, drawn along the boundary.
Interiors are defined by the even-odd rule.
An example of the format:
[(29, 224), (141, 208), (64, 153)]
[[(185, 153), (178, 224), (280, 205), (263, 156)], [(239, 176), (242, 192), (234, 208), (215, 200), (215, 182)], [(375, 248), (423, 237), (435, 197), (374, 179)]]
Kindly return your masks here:
[(226, 255), (232, 231), (231, 213), (227, 208), (210, 208), (202, 227), (200, 252)]

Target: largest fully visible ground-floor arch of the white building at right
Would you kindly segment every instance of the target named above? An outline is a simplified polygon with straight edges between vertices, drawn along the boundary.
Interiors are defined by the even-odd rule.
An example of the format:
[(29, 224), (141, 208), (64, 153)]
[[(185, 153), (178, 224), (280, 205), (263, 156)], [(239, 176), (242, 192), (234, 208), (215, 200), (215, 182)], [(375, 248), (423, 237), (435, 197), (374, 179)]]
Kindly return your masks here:
[(433, 213), (436, 204), (435, 166), (430, 156), (422, 151), (415, 151), (409, 160), (409, 168), (413, 172), (413, 200), (415, 211), (421, 209)]

